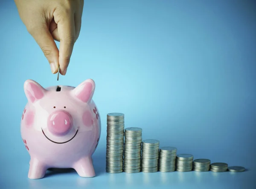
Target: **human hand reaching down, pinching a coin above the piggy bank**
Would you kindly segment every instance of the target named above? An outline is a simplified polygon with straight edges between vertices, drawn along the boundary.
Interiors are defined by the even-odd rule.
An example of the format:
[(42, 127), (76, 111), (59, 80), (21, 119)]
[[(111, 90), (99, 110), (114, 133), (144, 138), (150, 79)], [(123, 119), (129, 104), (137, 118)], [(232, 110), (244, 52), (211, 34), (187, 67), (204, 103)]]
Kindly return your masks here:
[[(20, 18), (49, 61), (65, 75), (81, 29), (84, 0), (15, 0)], [(55, 41), (60, 42), (58, 50)]]

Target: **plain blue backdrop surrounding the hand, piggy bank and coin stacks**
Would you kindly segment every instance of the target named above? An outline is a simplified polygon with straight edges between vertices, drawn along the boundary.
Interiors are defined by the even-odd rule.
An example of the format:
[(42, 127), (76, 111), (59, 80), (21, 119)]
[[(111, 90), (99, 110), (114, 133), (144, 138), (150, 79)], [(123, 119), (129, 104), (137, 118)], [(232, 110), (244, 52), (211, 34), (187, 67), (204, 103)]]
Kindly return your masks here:
[[(253, 0), (85, 0), (66, 76), (50, 71), (14, 1), (0, 1), (0, 188), (243, 188), (256, 186), (256, 3)], [(102, 135), (95, 178), (72, 170), (29, 180), (20, 137), (23, 83), (77, 86), (92, 78)], [(106, 115), (125, 114), (177, 153), (242, 173), (105, 172)], [(254, 187), (253, 187), (254, 186)]]

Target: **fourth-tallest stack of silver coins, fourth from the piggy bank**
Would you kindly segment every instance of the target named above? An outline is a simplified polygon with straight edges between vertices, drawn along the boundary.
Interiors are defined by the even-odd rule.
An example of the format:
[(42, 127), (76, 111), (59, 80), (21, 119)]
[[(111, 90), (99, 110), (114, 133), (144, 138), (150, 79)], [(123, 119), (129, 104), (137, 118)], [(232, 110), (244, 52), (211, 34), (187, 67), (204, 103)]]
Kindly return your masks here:
[(174, 172), (177, 148), (161, 147), (159, 152), (159, 171)]

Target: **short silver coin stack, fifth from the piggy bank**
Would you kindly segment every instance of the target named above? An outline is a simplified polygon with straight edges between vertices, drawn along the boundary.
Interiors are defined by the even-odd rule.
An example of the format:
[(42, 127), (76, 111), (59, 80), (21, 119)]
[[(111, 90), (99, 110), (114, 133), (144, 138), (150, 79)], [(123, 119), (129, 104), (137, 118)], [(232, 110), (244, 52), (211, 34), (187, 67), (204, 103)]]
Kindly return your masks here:
[(193, 169), (193, 158), (191, 154), (180, 154), (176, 158), (176, 170), (179, 172), (189, 172)]

